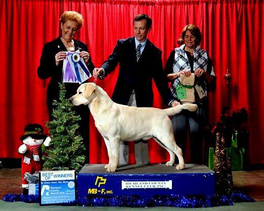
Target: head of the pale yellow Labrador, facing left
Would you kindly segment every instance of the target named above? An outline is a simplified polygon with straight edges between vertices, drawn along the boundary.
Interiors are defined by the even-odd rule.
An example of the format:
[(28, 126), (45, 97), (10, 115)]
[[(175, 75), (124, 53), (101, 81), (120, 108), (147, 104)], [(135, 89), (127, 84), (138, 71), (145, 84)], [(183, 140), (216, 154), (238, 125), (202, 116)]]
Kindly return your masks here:
[(70, 98), (70, 101), (73, 105), (87, 105), (93, 99), (92, 94), (96, 88), (95, 83), (83, 83), (77, 90), (76, 95), (73, 95)]

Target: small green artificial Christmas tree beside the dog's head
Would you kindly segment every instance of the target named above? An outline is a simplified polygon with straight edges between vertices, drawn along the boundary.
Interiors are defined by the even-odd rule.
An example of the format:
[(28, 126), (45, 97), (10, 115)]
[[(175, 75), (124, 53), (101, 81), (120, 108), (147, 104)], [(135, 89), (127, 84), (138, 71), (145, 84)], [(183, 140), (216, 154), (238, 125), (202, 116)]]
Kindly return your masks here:
[(78, 129), (81, 117), (73, 110), (69, 99), (65, 98), (64, 83), (60, 84), (59, 100), (54, 101), (53, 120), (47, 122), (52, 143), (44, 158), (44, 168), (80, 171), (84, 162), (85, 147)]

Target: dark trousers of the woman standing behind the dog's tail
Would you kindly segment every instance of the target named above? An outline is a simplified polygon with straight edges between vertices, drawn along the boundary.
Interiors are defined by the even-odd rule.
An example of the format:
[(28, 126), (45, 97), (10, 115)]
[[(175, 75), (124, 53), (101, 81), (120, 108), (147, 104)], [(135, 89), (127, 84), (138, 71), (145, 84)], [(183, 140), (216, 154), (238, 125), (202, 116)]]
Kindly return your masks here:
[(202, 163), (204, 108), (198, 107), (196, 112), (183, 110), (179, 114), (173, 115), (172, 126), (176, 143), (182, 149), (183, 155), (185, 154), (188, 127), (190, 127), (191, 163)]

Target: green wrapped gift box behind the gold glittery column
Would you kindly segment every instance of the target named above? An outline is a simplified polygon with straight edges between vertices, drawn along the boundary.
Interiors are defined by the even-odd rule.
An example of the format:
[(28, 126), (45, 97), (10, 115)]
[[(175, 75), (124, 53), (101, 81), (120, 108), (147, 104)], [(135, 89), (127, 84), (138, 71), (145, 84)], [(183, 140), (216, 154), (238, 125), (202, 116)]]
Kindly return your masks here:
[[(232, 171), (241, 171), (244, 166), (245, 148), (227, 147), (225, 154), (231, 157)], [(208, 151), (208, 167), (214, 170), (214, 148), (210, 147)]]

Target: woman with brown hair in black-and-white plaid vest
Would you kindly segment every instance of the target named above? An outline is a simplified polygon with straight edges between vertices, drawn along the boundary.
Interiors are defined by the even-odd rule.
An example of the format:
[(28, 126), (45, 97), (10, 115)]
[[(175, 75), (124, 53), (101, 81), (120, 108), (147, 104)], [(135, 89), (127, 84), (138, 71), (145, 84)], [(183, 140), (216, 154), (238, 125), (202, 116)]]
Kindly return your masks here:
[(180, 75), (189, 77), (191, 73), (195, 74), (195, 103), (198, 109), (196, 112), (183, 110), (174, 115), (172, 125), (175, 139), (183, 153), (188, 126), (190, 126), (191, 162), (202, 163), (202, 134), (205, 111), (207, 111), (207, 88), (215, 83), (215, 73), (207, 52), (199, 46), (202, 37), (200, 29), (196, 25), (186, 25), (182, 30), (182, 37), (184, 44), (171, 52), (166, 63), (165, 74), (171, 81), (171, 92), (178, 104), (180, 100), (176, 87), (179, 85)]

